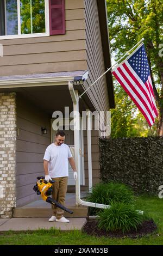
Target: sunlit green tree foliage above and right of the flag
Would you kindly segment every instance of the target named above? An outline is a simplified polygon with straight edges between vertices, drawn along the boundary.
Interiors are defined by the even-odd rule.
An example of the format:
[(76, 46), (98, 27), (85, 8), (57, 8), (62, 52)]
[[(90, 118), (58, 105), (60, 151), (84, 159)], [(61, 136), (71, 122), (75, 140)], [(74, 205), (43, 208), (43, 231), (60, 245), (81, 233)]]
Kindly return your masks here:
[(161, 0), (107, 0), (109, 34), (116, 59), (145, 39), (156, 105), (157, 131), (163, 136), (163, 2)]

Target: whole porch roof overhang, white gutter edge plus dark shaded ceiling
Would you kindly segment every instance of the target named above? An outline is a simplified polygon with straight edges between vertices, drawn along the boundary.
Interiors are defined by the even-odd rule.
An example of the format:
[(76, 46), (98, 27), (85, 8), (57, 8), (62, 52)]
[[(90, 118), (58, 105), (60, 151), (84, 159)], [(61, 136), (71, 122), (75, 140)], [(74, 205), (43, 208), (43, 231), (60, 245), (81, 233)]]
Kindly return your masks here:
[[(67, 71), (49, 74), (32, 74), (21, 76), (0, 76), (0, 92), (16, 92), (42, 111), (52, 115), (56, 110), (64, 112), (65, 106), (73, 110), (68, 81), (85, 80), (87, 71)], [(82, 85), (74, 85), (74, 89), (83, 93)], [(85, 94), (79, 101), (79, 111), (94, 107)]]

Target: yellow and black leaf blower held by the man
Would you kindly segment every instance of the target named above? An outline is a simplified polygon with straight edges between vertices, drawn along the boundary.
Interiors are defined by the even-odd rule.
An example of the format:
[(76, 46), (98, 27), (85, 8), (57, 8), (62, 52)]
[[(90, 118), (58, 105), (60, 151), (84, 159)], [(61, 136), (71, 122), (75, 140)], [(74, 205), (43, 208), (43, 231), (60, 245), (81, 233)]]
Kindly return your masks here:
[(37, 182), (36, 185), (33, 187), (33, 190), (36, 192), (36, 194), (41, 194), (41, 197), (43, 200), (46, 202), (56, 205), (58, 208), (67, 211), (69, 214), (73, 214), (73, 211), (67, 209), (64, 205), (59, 204), (57, 201), (52, 199), (50, 196), (53, 192), (53, 183), (55, 182), (54, 180), (49, 180), (46, 181), (45, 177), (37, 177)]

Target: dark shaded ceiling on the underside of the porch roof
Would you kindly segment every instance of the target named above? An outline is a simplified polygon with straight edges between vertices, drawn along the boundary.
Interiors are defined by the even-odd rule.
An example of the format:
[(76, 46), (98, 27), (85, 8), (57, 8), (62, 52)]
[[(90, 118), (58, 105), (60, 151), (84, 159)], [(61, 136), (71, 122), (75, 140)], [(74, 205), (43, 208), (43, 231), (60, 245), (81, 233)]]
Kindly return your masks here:
[[(64, 113), (66, 106), (70, 107), (70, 112), (73, 111), (73, 103), (68, 86), (5, 88), (0, 89), (0, 93), (1, 92), (15, 92), (18, 96), (28, 100), (34, 106), (39, 107), (49, 115), (52, 115), (52, 113), (57, 110)], [(90, 102), (85, 103), (85, 101), (81, 99), (79, 101), (79, 111), (82, 112), (85, 111), (86, 108), (91, 108), (88, 103)]]

